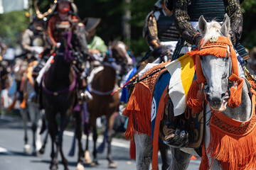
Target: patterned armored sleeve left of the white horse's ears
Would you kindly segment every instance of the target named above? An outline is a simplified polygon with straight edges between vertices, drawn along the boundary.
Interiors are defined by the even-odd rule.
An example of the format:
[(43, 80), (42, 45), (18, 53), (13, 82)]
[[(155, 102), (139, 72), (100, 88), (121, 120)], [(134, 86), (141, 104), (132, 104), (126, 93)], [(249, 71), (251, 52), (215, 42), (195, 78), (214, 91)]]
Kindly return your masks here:
[(192, 44), (193, 37), (198, 31), (189, 23), (188, 16), (188, 1), (176, 0), (174, 1), (174, 23), (182, 38)]

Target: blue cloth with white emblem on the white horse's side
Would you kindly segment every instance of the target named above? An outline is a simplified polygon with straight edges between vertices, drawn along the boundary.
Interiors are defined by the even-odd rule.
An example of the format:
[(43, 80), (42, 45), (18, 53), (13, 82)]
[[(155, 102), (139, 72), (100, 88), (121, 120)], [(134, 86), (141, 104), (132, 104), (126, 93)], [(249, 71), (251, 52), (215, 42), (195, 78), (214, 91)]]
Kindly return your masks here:
[[(156, 123), (156, 113), (159, 108), (159, 101), (161, 99), (161, 96), (164, 93), (164, 89), (166, 89), (166, 86), (169, 85), (169, 81), (171, 79), (171, 75), (169, 72), (166, 72), (159, 77), (159, 79), (156, 81), (156, 86), (154, 88), (154, 96), (152, 99), (152, 106), (151, 106), (151, 138), (153, 140), (154, 137), (154, 125)], [(159, 142), (162, 142), (159, 138)]]

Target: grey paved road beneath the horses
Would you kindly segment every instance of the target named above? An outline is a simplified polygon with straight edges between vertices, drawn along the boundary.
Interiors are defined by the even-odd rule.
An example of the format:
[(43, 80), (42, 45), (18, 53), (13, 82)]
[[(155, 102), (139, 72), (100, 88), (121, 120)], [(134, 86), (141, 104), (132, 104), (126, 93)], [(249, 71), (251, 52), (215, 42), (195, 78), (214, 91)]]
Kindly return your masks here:
[[(28, 131), (29, 143), (31, 144), (31, 131)], [(70, 170), (76, 169), (75, 157), (68, 157), (70, 144), (72, 142), (72, 132), (65, 131), (63, 136), (63, 150), (67, 155), (68, 166)], [(48, 139), (50, 141), (50, 137)], [(99, 142), (102, 141), (100, 137)], [(85, 145), (83, 140), (83, 146)], [(129, 159), (129, 142), (127, 140), (114, 139), (112, 147), (112, 156), (117, 163), (117, 169), (132, 170), (135, 169), (135, 162)], [(90, 141), (90, 146), (92, 142)], [(76, 150), (77, 151), (77, 150)], [(106, 152), (98, 154), (99, 166), (90, 166), (85, 164), (85, 169), (107, 169)], [(189, 170), (198, 169), (199, 160), (191, 161)], [(0, 170), (46, 170), (50, 165), (50, 143), (46, 147), (46, 153), (38, 157), (33, 157), (23, 153), (23, 123), (21, 118), (0, 117)], [(161, 167), (161, 159), (159, 159)], [(59, 169), (63, 169), (60, 164)]]

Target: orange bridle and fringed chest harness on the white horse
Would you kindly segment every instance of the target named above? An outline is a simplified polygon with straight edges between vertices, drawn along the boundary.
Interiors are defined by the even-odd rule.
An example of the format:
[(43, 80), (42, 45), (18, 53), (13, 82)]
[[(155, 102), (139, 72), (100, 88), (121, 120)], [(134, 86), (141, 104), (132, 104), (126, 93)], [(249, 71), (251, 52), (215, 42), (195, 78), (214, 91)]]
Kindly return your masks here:
[[(230, 52), (228, 50), (230, 49)], [(206, 78), (203, 76), (201, 61), (198, 56), (214, 55), (215, 57), (231, 57), (232, 74), (229, 79), (230, 98), (228, 106), (235, 108), (240, 106), (242, 96), (242, 85), (244, 79), (238, 76), (238, 60), (235, 50), (230, 40), (225, 37), (218, 37), (217, 40), (210, 40), (201, 50), (187, 52), (191, 57), (196, 57), (196, 75), (198, 83), (204, 84)], [(235, 82), (235, 86), (234, 83)], [(232, 84), (232, 85), (230, 85)], [(194, 84), (195, 85), (195, 84)], [(196, 84), (198, 86), (198, 84)], [(195, 86), (194, 86), (195, 87)], [(191, 86), (191, 89), (194, 89)], [(256, 167), (256, 116), (255, 116), (255, 88), (254, 82), (250, 81), (250, 91), (252, 92), (252, 115), (246, 122), (240, 122), (229, 118), (224, 113), (213, 111), (210, 118), (210, 145), (205, 148), (205, 141), (202, 146), (202, 158), (200, 170), (210, 169), (208, 157), (210, 160), (217, 159), (223, 169), (253, 169)], [(195, 94), (195, 93), (193, 93)], [(188, 95), (188, 106), (192, 109), (198, 109), (193, 100), (198, 96)], [(201, 101), (203, 103), (203, 101)], [(202, 104), (201, 103), (201, 104)]]

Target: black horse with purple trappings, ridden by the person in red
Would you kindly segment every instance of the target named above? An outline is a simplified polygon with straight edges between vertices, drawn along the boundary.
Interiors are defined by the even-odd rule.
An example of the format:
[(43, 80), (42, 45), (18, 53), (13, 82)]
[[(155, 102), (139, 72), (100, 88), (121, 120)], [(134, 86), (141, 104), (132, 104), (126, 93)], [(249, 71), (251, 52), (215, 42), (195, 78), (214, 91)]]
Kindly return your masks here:
[[(51, 170), (58, 169), (58, 152), (62, 157), (64, 169), (68, 169), (68, 161), (63, 155), (62, 142), (63, 130), (68, 122), (68, 113), (72, 113), (77, 97), (76, 84), (78, 77), (73, 69), (73, 62), (78, 59), (85, 60), (86, 57), (85, 28), (82, 23), (78, 23), (65, 34), (60, 48), (56, 52), (53, 64), (43, 76), (42, 101), (48, 120), (48, 132), (52, 140)], [(60, 115), (60, 127), (57, 123), (58, 113)], [(78, 122), (81, 120), (80, 113), (76, 113), (74, 117)], [(81, 138), (80, 131), (78, 123), (76, 137), (79, 142)], [(83, 169), (81, 157), (82, 147), (79, 148), (78, 168)]]

